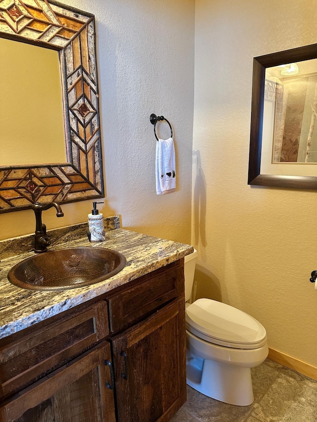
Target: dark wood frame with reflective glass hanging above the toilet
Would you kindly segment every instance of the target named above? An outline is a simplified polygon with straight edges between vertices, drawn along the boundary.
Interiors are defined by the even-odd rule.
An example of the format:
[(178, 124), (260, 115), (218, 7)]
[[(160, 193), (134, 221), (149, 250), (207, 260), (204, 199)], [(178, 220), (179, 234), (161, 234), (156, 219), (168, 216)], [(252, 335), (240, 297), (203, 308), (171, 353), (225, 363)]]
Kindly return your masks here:
[(317, 44), (253, 63), (248, 184), (317, 189)]

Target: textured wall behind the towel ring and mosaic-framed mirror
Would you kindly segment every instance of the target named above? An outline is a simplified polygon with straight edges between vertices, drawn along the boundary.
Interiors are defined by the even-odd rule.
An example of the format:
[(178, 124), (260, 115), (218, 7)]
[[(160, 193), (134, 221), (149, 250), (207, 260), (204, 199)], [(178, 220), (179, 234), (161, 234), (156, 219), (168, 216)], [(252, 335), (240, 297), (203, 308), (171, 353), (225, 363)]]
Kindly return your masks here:
[[(106, 184), (105, 215), (124, 228), (191, 240), (195, 1), (65, 0), (94, 13)], [(177, 190), (157, 195), (156, 139), (150, 114), (174, 130)], [(169, 137), (164, 126), (161, 136)], [(159, 128), (158, 128), (159, 129)], [(87, 221), (92, 201), (43, 213), (48, 229)], [(0, 214), (0, 238), (32, 233), (32, 211)]]

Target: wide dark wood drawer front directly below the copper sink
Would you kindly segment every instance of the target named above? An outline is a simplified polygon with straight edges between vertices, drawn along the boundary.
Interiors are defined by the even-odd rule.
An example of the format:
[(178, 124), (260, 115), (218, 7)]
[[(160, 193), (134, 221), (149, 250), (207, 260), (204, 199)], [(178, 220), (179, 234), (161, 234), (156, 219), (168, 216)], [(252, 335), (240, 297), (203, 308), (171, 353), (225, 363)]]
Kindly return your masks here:
[(107, 305), (99, 302), (0, 348), (0, 395), (62, 366), (107, 334)]

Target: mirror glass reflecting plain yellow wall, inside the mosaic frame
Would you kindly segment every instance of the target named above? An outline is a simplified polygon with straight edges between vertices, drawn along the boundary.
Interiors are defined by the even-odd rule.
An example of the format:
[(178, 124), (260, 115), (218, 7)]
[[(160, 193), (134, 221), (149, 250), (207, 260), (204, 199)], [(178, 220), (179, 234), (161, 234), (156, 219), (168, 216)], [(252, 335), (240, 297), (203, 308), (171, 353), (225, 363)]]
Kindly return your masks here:
[(65, 163), (58, 52), (0, 38), (0, 166)]

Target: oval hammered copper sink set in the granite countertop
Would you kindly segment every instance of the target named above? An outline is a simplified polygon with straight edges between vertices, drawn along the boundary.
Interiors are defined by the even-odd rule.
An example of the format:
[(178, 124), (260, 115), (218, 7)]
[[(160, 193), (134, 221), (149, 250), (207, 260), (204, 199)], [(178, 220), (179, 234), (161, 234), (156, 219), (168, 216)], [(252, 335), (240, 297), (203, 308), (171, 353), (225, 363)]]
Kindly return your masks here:
[(107, 280), (125, 264), (125, 257), (112, 249), (77, 247), (24, 259), (7, 277), (12, 284), (30, 290), (66, 290)]

